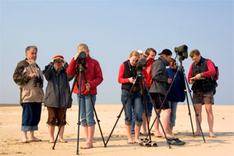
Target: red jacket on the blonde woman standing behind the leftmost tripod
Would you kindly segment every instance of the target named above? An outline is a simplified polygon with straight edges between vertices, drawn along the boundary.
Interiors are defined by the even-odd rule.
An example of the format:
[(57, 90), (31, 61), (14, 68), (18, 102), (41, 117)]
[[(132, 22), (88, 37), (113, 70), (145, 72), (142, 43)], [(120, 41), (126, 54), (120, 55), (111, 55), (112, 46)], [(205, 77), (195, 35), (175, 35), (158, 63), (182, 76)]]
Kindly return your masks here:
[[(90, 56), (87, 56), (85, 58), (86, 67), (87, 70), (85, 70), (85, 76), (87, 79), (87, 83), (90, 83), (90, 93), (91, 95), (97, 94), (97, 86), (103, 81), (102, 77), (102, 70), (97, 60), (91, 58)], [(67, 68), (67, 74), (71, 76), (76, 75), (76, 69), (79, 67), (79, 64), (72, 58), (71, 62), (69, 63), (69, 66)], [(77, 77), (78, 84), (79, 83), (79, 75)], [(79, 88), (77, 87), (77, 84), (75, 84), (73, 92), (76, 94), (79, 94)], [(82, 95), (88, 95), (89, 92), (87, 89), (85, 89), (85, 81), (84, 81), (84, 75), (82, 75), (82, 84), (81, 84), (81, 94)]]

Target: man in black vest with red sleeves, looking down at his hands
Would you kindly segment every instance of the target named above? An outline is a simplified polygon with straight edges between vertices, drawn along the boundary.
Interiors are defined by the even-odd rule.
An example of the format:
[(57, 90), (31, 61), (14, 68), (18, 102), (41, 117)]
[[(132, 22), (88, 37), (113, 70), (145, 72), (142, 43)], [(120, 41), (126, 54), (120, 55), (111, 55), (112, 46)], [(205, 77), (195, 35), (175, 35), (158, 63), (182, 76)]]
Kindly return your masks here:
[[(201, 124), (202, 105), (205, 104), (207, 112), (207, 120), (209, 125), (209, 136), (215, 137), (213, 133), (214, 116), (212, 105), (214, 103), (214, 83), (212, 77), (215, 76), (215, 67), (210, 59), (205, 59), (201, 56), (199, 50), (194, 49), (190, 52), (190, 57), (193, 63), (190, 66), (188, 73), (188, 81), (192, 84), (193, 102), (196, 107), (198, 119)], [(197, 130), (195, 136), (201, 135), (199, 123), (196, 120)]]

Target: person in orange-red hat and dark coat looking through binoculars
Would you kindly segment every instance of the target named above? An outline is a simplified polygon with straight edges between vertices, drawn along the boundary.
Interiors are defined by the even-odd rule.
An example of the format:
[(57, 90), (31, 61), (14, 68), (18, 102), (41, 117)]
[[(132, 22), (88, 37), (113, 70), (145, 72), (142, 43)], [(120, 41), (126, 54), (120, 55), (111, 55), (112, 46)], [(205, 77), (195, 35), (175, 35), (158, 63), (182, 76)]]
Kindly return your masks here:
[[(54, 143), (55, 126), (60, 126), (66, 108), (71, 107), (69, 76), (66, 73), (67, 63), (62, 55), (56, 55), (52, 62), (45, 67), (43, 74), (48, 81), (44, 104), (48, 110), (49, 136), (51, 143)], [(59, 142), (66, 143), (63, 139), (66, 125), (66, 114), (59, 133)]]

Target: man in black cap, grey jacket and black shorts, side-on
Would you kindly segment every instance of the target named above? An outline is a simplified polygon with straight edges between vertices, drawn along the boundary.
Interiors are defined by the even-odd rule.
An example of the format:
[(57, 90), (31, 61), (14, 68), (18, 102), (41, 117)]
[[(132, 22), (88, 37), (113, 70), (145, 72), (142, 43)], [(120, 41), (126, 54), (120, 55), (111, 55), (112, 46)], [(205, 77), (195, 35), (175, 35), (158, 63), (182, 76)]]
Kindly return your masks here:
[[(169, 119), (171, 108), (169, 107), (165, 95), (167, 93), (168, 85), (172, 82), (172, 79), (167, 75), (166, 66), (169, 65), (172, 52), (169, 49), (164, 49), (160, 54), (160, 57), (154, 61), (152, 65), (152, 84), (150, 86), (150, 94), (155, 101), (156, 111), (160, 114), (160, 110), (164, 110), (163, 126), (167, 137), (172, 137), (167, 131), (169, 126)], [(164, 101), (165, 99), (165, 101)], [(163, 103), (164, 101), (164, 103)], [(160, 112), (159, 112), (160, 111)], [(155, 122), (155, 134), (156, 137), (162, 137), (159, 131), (159, 120)]]

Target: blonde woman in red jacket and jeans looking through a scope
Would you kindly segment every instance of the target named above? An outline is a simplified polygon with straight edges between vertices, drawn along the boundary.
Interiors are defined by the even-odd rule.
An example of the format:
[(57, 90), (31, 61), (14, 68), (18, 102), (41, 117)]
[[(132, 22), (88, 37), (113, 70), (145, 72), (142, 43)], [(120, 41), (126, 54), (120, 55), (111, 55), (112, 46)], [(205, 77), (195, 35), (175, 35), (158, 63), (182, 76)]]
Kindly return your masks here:
[[(83, 149), (92, 148), (93, 144), (93, 136), (94, 136), (94, 129), (95, 129), (95, 120), (94, 120), (94, 113), (93, 113), (93, 106), (90, 100), (89, 91), (92, 95), (92, 101), (95, 103), (96, 101), (96, 94), (97, 94), (97, 86), (103, 81), (102, 77), (102, 70), (99, 65), (99, 62), (89, 56), (89, 48), (86, 44), (80, 44), (77, 47), (78, 53), (72, 58), (68, 69), (67, 74), (74, 76), (76, 75), (76, 70), (79, 68), (79, 61), (77, 62), (77, 58), (79, 57), (81, 52), (86, 53), (86, 57), (84, 59), (85, 65), (87, 70), (85, 70), (85, 76), (87, 79), (87, 83), (84, 81), (84, 75), (82, 75), (82, 84), (81, 86), (81, 103), (80, 103), (80, 116), (81, 116), (81, 125), (84, 127), (85, 137), (86, 137), (86, 144), (82, 147)], [(79, 82), (79, 76), (77, 77), (77, 82)], [(75, 94), (79, 94), (79, 88), (77, 84), (75, 84), (73, 92)], [(78, 96), (78, 101), (79, 101)]]

